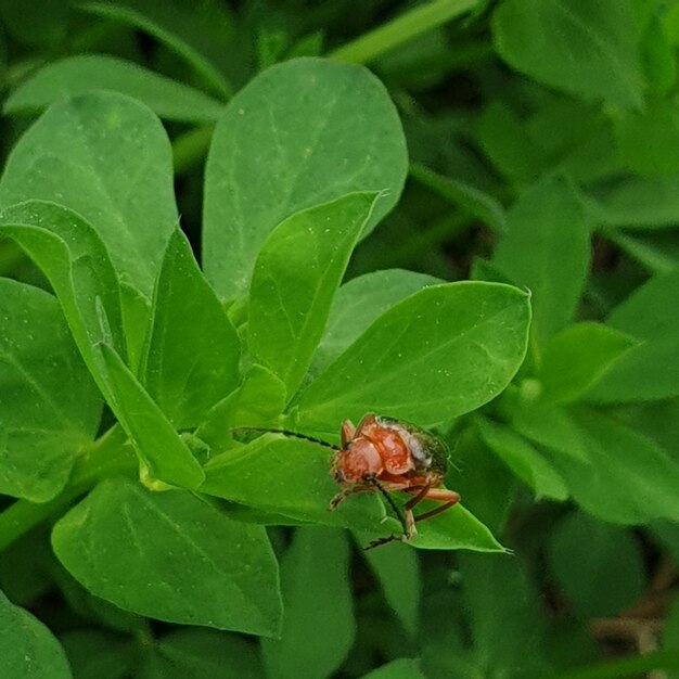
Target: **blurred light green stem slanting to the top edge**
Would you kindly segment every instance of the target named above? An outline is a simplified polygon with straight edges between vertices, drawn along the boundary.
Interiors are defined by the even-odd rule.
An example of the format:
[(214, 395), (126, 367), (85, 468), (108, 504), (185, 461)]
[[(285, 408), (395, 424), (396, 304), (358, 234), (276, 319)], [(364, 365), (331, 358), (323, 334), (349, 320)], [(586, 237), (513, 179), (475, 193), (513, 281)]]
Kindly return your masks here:
[(367, 64), (417, 36), (445, 24), (478, 4), (478, 0), (433, 0), (334, 50), (330, 56)]

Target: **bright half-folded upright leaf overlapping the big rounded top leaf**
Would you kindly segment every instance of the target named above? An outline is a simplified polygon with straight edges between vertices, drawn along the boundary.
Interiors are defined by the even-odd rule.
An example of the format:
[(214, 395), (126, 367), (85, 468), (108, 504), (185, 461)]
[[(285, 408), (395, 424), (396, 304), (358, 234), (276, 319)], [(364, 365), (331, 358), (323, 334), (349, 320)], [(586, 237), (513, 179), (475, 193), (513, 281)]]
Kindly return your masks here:
[(249, 291), (247, 345), (294, 394), (323, 334), (333, 296), (375, 204), (350, 193), (294, 214), (266, 240)]

